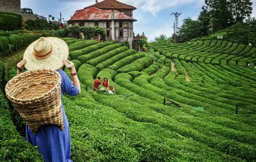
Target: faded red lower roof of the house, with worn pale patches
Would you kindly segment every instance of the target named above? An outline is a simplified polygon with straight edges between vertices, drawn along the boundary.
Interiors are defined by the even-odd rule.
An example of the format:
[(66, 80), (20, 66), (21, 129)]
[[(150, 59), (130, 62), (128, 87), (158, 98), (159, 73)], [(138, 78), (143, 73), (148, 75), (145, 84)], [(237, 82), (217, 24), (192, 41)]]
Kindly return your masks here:
[[(82, 10), (77, 10), (70, 20), (112, 20), (111, 10), (101, 10), (99, 8), (90, 7)], [(130, 20), (137, 21), (121, 12), (114, 10), (114, 20)]]

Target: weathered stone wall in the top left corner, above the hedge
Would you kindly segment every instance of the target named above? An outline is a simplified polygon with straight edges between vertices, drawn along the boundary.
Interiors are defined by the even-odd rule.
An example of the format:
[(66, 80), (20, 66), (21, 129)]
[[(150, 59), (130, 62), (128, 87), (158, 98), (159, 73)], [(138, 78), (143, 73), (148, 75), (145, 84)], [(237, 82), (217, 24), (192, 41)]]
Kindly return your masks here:
[(20, 13), (21, 0), (0, 0), (0, 11)]

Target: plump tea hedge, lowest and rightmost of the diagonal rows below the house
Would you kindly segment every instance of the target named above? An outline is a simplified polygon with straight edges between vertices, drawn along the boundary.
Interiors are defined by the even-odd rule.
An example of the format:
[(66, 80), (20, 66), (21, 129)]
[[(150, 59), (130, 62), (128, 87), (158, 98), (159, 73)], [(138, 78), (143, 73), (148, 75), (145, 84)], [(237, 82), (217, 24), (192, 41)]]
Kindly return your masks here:
[(138, 60), (135, 60), (131, 64), (128, 64), (118, 70), (116, 72), (119, 73), (128, 73), (130, 71), (142, 71), (146, 67), (150, 66), (153, 62), (153, 58), (150, 56), (145, 56)]

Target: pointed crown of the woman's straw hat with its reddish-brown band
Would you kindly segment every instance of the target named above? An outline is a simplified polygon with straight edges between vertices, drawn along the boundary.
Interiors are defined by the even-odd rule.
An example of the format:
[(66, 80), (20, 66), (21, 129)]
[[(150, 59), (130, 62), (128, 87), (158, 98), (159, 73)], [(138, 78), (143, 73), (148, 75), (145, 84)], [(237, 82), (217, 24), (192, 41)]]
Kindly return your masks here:
[(34, 55), (36, 57), (42, 58), (50, 55), (52, 53), (52, 44), (45, 38), (41, 37), (37, 40), (34, 45)]

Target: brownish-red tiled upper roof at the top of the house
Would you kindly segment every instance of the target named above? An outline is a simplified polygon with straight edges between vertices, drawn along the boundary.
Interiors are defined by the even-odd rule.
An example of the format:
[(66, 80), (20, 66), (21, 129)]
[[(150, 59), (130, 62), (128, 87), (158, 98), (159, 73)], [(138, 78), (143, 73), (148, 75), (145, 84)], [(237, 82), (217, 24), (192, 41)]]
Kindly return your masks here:
[[(111, 9), (111, 8), (114, 8), (114, 9), (131, 9), (131, 10), (137, 9), (136, 7), (127, 5), (125, 3), (121, 3), (121, 2), (116, 1), (116, 0), (104, 0), (104, 1), (98, 2), (98, 3), (93, 4), (91, 6), (88, 6), (88, 7), (96, 7), (96, 8), (99, 8), (99, 9)], [(85, 7), (85, 8), (88, 8), (88, 7)]]

